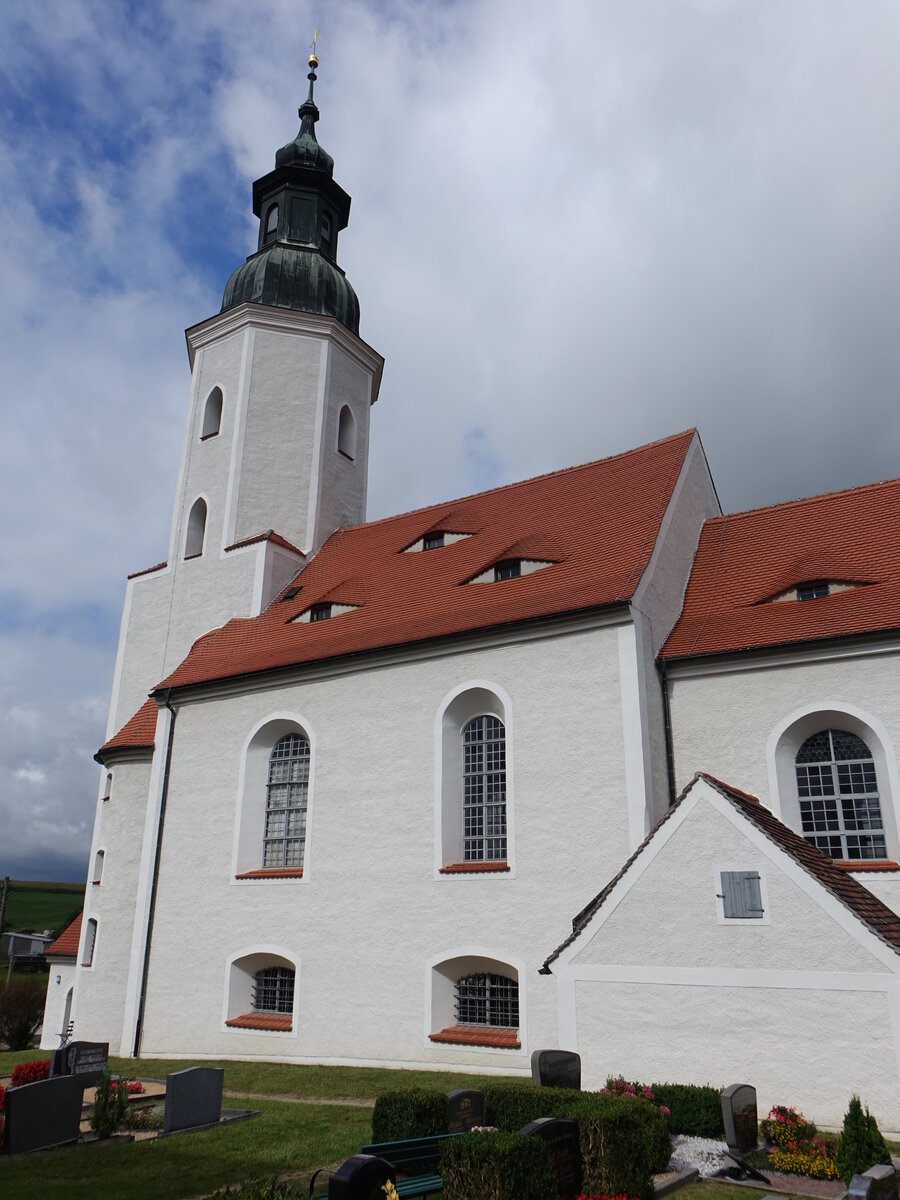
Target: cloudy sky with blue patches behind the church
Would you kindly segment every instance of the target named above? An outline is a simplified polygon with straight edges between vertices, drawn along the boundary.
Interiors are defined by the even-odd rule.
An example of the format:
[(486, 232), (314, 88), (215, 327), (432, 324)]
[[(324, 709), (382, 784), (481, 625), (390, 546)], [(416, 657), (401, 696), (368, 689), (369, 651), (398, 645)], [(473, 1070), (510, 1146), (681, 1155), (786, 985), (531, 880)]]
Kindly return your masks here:
[(896, 0), (2, 5), (0, 875), (85, 876), (184, 330), (316, 26), (371, 517), (690, 426), (726, 511), (900, 475)]

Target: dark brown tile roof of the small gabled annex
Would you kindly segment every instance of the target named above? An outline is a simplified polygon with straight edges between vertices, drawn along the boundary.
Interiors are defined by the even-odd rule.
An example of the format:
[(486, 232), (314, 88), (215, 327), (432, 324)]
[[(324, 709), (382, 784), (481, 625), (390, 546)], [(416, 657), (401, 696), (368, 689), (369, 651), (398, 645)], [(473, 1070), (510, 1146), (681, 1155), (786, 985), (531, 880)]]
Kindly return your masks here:
[(679, 809), (682, 802), (698, 779), (706, 780), (706, 782), (709, 784), (710, 787), (714, 787), (720, 796), (724, 796), (726, 800), (730, 800), (739, 812), (751, 821), (757, 829), (766, 834), (769, 841), (773, 841), (780, 850), (785, 851), (786, 854), (790, 854), (791, 858), (793, 858), (794, 862), (804, 869), (804, 871), (814, 876), (814, 878), (827, 888), (832, 895), (835, 896), (846, 908), (848, 908), (854, 917), (862, 920), (876, 937), (881, 938), (881, 941), (889, 946), (892, 950), (900, 954), (900, 917), (888, 908), (886, 904), (882, 904), (877, 896), (872, 895), (868, 888), (864, 888), (862, 883), (848, 875), (846, 872), (845, 864), (835, 863), (827, 854), (823, 854), (821, 850), (817, 850), (812, 842), (806, 841), (805, 838), (802, 838), (792, 829), (788, 829), (786, 824), (782, 824), (773, 812), (769, 812), (769, 810), (760, 803), (756, 796), (751, 796), (749, 792), (742, 792), (739, 788), (732, 787), (730, 784), (724, 784), (714, 775), (708, 775), (706, 772), (701, 770), (697, 772), (690, 784), (688, 784), (674, 804), (667, 810), (666, 815), (656, 822), (653, 829), (650, 829), (622, 870), (614, 875), (606, 887), (599, 892), (594, 899), (575, 917), (572, 920), (571, 934), (564, 942), (560, 942), (551, 955), (548, 955), (544, 962), (541, 973), (548, 974), (551, 962), (558, 959), (563, 950), (568, 946), (571, 946), (582, 930), (586, 929), (594, 913), (601, 907), (619, 880), (628, 875), (632, 864), (641, 857), (646, 847), (650, 844), (650, 841), (653, 841), (656, 833), (666, 823), (666, 821), (670, 820), (672, 814)]

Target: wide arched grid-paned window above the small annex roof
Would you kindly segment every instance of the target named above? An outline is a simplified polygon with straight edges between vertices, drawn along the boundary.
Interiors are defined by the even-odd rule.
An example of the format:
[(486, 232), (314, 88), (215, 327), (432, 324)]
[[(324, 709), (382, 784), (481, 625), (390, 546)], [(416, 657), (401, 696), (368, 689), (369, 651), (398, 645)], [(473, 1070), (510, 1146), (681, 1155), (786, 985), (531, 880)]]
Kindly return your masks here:
[(846, 730), (822, 730), (797, 752), (803, 835), (832, 858), (887, 858), (878, 784), (869, 746)]

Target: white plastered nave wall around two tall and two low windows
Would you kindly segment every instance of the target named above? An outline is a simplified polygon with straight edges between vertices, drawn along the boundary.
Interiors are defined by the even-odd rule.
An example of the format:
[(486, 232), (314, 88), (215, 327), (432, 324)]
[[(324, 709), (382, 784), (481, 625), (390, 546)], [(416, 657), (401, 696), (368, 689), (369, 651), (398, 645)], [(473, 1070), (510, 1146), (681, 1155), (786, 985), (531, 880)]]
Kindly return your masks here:
[[(469, 682), (509, 697), (515, 870), (442, 876), (434, 721)], [(143, 1052), (527, 1072), (557, 1044), (538, 968), (628, 856), (618, 697), (617, 630), (598, 628), (181, 706)], [(269, 719), (314, 738), (304, 877), (235, 881), (235, 821), (264, 803), (240, 791), (241, 754)], [(290, 1034), (222, 1028), (226, 966), (260, 943), (298, 964)], [(520, 1051), (428, 1040), (428, 964), (460, 947), (521, 964)]]

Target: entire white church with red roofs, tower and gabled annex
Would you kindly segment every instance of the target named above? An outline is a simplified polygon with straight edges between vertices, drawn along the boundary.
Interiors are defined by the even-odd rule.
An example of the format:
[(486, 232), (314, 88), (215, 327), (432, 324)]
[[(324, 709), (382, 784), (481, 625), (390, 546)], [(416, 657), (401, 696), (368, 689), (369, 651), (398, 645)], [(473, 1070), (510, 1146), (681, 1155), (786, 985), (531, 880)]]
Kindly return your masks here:
[[(900, 482), (722, 516), (689, 431), (366, 524), (382, 359), (313, 79), (187, 332), (44, 1044), (71, 1015), (122, 1055), (522, 1074), (563, 1045), (588, 1086), (742, 1076), (823, 1121), (856, 1088), (900, 1128)], [(727, 785), (672, 808), (697, 772)]]

